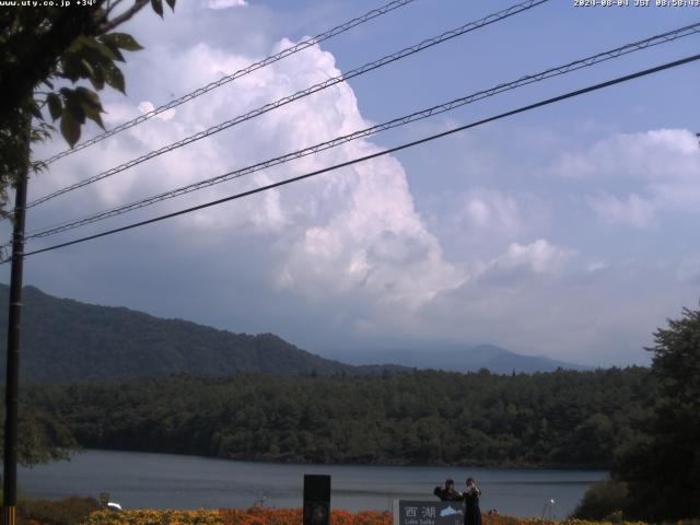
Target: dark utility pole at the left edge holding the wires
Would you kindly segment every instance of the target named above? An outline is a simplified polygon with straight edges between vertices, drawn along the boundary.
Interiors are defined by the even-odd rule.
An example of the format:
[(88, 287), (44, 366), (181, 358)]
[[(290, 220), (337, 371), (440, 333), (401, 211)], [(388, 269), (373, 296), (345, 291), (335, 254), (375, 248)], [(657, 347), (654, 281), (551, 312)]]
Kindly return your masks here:
[[(28, 142), (27, 142), (28, 164)], [(14, 187), (12, 229), (12, 268), (10, 273), (10, 314), (8, 319), (8, 360), (4, 397), (4, 458), (2, 486), (2, 525), (15, 525), (18, 504), (18, 412), (20, 395), (20, 322), (22, 316), (22, 270), (24, 266), (24, 214), (28, 166)]]

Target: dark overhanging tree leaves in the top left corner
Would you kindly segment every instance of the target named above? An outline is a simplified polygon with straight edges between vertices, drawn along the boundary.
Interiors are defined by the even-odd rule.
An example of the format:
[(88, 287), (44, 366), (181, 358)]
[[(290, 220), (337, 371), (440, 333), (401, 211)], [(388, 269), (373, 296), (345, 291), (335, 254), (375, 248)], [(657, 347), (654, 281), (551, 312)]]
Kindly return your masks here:
[[(141, 46), (113, 30), (148, 0), (133, 0), (130, 7), (122, 2), (91, 0), (81, 9), (42, 2), (0, 10), (0, 218), (7, 217), (9, 185), (45, 167), (33, 162), (32, 147), (56, 131), (49, 119), (60, 122), (61, 135), (73, 147), (88, 120), (103, 126), (97, 92), (105, 84), (125, 92), (117, 63), (125, 61), (122, 51)], [(174, 9), (175, 0), (167, 4)], [(151, 5), (163, 16), (162, 0), (151, 0)], [(93, 89), (79, 85), (86, 82)]]

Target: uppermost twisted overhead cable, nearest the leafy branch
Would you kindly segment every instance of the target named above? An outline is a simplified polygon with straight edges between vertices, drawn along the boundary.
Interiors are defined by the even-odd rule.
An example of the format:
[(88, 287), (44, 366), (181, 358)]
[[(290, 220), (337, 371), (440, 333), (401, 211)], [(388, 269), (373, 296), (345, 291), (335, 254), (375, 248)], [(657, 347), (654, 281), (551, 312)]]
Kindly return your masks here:
[(163, 104), (162, 106), (156, 107), (155, 109), (152, 109), (143, 115), (138, 116), (137, 118), (129, 120), (128, 122), (124, 122), (120, 124), (119, 126), (109, 129), (101, 135), (97, 135), (96, 137), (93, 137), (90, 140), (85, 140), (83, 142), (80, 142), (78, 144), (75, 144), (72, 149), (68, 149), (65, 151), (61, 151), (60, 153), (55, 154), (54, 156), (50, 156), (49, 159), (42, 161), (44, 164), (51, 164), (52, 162), (58, 161), (59, 159), (62, 159), (63, 156), (70, 155), (72, 153), (75, 153), (77, 151), (83, 150), (90, 145), (96, 144), (97, 142), (102, 142), (103, 140), (117, 135), (120, 131), (124, 131), (125, 129), (129, 129), (132, 128), (133, 126), (137, 126), (150, 118), (155, 117), (156, 115), (160, 115), (163, 112), (167, 112), (168, 109), (173, 109), (174, 107), (179, 106), (180, 104), (185, 104), (186, 102), (191, 101), (192, 98), (197, 98), (198, 96), (203, 95), (205, 93), (209, 93), (212, 90), (215, 90), (217, 88), (220, 88), (221, 85), (228, 84), (229, 82), (233, 82), (236, 79), (240, 79), (241, 77), (244, 77), (246, 74), (249, 74), (254, 71), (257, 71), (258, 69), (262, 69), (266, 66), (269, 66), (271, 63), (275, 63), (279, 60), (282, 60), (283, 58), (287, 58), (291, 55), (294, 55), (303, 49), (306, 49), (307, 47), (311, 47), (315, 44), (320, 44), (324, 40), (327, 40), (328, 38), (331, 38), (336, 35), (339, 35), (340, 33), (345, 33), (348, 30), (351, 30), (352, 27), (355, 27), (358, 25), (364, 24), (365, 22), (369, 22), (372, 19), (375, 19), (377, 16), (381, 16), (383, 14), (386, 14), (390, 11), (394, 11), (395, 9), (398, 8), (402, 8), (404, 5), (413, 2), (415, 0), (394, 0), (392, 2), (388, 2), (385, 5), (382, 5), (381, 8), (377, 9), (373, 9), (372, 11), (369, 11), (366, 13), (364, 13), (362, 16), (358, 16), (357, 19), (352, 19), (341, 25), (338, 25), (331, 30), (328, 30), (324, 33), (320, 33), (319, 35), (316, 35), (312, 38), (306, 38), (305, 40), (300, 42), (299, 44), (295, 44), (294, 46), (288, 47), (285, 49), (282, 49), (280, 52), (276, 54), (276, 55), (271, 55), (267, 58), (264, 58), (262, 60), (252, 63), (250, 66), (241, 69), (238, 71), (236, 71), (235, 73), (229, 74), (226, 77), (223, 77), (214, 82), (211, 82), (202, 88), (199, 88), (198, 90), (195, 90), (190, 93), (187, 93), (186, 95), (180, 96), (179, 98), (175, 98), (166, 104)]

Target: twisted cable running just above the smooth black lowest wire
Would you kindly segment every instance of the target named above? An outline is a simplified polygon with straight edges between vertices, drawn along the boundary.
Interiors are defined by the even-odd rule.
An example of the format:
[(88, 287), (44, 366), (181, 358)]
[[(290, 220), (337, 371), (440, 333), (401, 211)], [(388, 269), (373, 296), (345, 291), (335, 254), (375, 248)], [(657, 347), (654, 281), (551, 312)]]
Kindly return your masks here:
[(397, 128), (400, 126), (405, 126), (408, 125), (410, 122), (417, 121), (417, 120), (422, 120), (424, 118), (428, 117), (432, 117), (434, 115), (439, 115), (441, 113), (445, 113), (445, 112), (450, 112), (453, 109), (456, 109), (457, 107), (464, 106), (466, 104), (471, 104), (474, 102), (490, 97), (490, 96), (494, 96), (499, 93), (503, 93), (505, 91), (511, 91), (517, 88), (521, 88), (523, 85), (528, 85), (535, 82), (540, 82), (542, 80), (552, 78), (552, 77), (558, 77), (560, 74), (565, 74), (569, 73), (571, 71), (575, 71), (579, 69), (583, 69), (583, 68), (587, 68), (587, 67), (592, 67), (596, 63), (606, 61), (606, 60), (610, 60), (614, 58), (618, 58), (620, 56), (623, 55), (628, 55), (630, 52), (633, 51), (638, 51), (641, 49), (645, 49), (648, 47), (652, 47), (652, 46), (656, 46), (660, 44), (664, 44), (667, 42), (673, 42), (675, 39), (685, 37), (685, 36), (689, 36), (692, 34), (697, 34), (700, 33), (700, 23), (696, 23), (692, 25), (688, 25), (686, 27), (680, 27), (678, 30), (674, 30), (674, 31), (669, 31), (666, 33), (663, 33), (661, 35), (656, 35), (650, 38), (645, 38), (643, 40), (639, 40), (639, 42), (634, 42), (631, 44), (627, 44), (625, 46), (621, 47), (617, 47), (615, 49), (610, 49), (608, 51), (604, 51), (604, 52), (599, 52), (597, 55), (593, 55), (586, 58), (582, 58), (579, 60), (575, 60), (573, 62), (569, 62), (564, 66), (558, 66), (555, 68), (550, 68), (547, 69), (545, 71), (541, 71), (539, 73), (535, 73), (535, 74), (529, 74), (527, 77), (522, 77), (515, 81), (512, 82), (508, 82), (508, 83), (502, 83), (499, 84), (494, 88), (488, 89), (488, 90), (483, 90), (483, 91), (479, 91), (477, 93), (472, 93), (470, 95), (467, 96), (463, 96), (459, 98), (455, 98), (451, 102), (444, 103), (444, 104), (440, 104), (436, 106), (432, 106), (430, 108), (427, 109), (422, 109), (420, 112), (416, 112), (412, 113), (410, 115), (406, 115), (399, 118), (395, 118), (393, 120), (388, 120), (386, 122), (383, 124), (378, 124), (376, 126), (372, 126), (365, 129), (361, 129), (358, 131), (354, 131), (350, 135), (346, 135), (342, 137), (337, 137), (332, 140), (329, 141), (325, 141), (325, 142), (320, 142), (318, 144), (292, 152), (292, 153), (287, 153), (284, 155), (281, 156), (277, 156), (275, 159), (270, 159), (264, 162), (259, 162), (257, 164), (253, 164), (250, 166), (246, 166), (240, 170), (235, 170), (232, 172), (228, 172), (224, 173), (222, 175), (218, 175), (215, 177), (212, 178), (208, 178), (205, 180), (199, 180), (197, 183), (192, 183), (186, 186), (182, 186), (179, 188), (176, 189), (172, 189), (168, 191), (164, 191), (162, 194), (158, 194), (151, 197), (147, 197), (144, 199), (135, 201), (135, 202), (130, 202), (127, 205), (122, 205), (116, 208), (112, 208), (109, 210), (106, 211), (101, 211), (97, 213), (92, 213), (90, 215), (85, 215), (79, 219), (74, 219), (71, 221), (65, 221), (60, 224), (56, 224), (52, 226), (45, 226), (42, 229), (37, 229), (34, 230), (33, 232), (30, 232), (26, 235), (26, 240), (30, 238), (38, 238), (38, 237), (46, 237), (49, 235), (55, 235), (57, 233), (61, 233), (61, 232), (66, 232), (69, 230), (73, 230), (75, 228), (80, 228), (86, 224), (92, 224), (94, 222), (97, 221), (102, 221), (112, 217), (116, 217), (116, 215), (120, 215), (140, 208), (144, 208), (147, 206), (156, 203), (156, 202), (161, 202), (167, 199), (172, 199), (175, 197), (179, 197), (182, 195), (186, 195), (189, 194), (191, 191), (196, 191), (198, 189), (202, 189), (209, 186), (213, 186), (215, 184), (221, 184), (224, 183), (226, 180), (231, 180), (234, 178), (240, 178), (243, 177), (245, 175), (249, 175), (252, 173), (258, 172), (260, 170), (265, 170), (268, 167), (272, 167), (276, 165), (280, 165), (280, 164), (284, 164), (287, 162), (290, 162), (292, 160), (295, 159), (300, 159), (303, 156), (307, 156), (311, 154), (315, 154), (318, 153), (320, 151), (325, 151), (331, 148), (336, 148), (338, 145), (341, 145), (346, 142), (350, 142), (352, 140), (357, 140), (360, 138), (364, 138), (364, 137), (369, 137), (392, 128)]

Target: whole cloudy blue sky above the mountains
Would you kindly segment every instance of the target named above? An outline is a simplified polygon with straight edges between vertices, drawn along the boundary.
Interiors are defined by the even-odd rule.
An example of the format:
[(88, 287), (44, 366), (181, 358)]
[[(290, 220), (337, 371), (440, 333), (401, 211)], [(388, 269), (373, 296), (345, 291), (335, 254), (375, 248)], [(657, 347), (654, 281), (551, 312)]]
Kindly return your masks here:
[[(515, 2), (513, 2), (515, 3)], [(207, 93), (32, 178), (30, 200), (513, 3), (416, 0)], [(551, 0), (32, 208), (27, 231), (170, 190), (700, 21), (700, 8)], [(107, 128), (382, 5), (180, 0), (119, 31), (144, 50)], [(171, 199), (97, 233), (417, 140), (697, 52), (700, 35)], [(96, 241), (31, 256), (24, 282), (322, 355), (491, 343), (648, 364), (700, 299), (700, 63)], [(100, 130), (88, 126), (83, 137)], [(36, 149), (43, 159), (62, 139)], [(1, 233), (9, 237), (7, 224)], [(0, 271), (9, 281), (9, 265)]]

